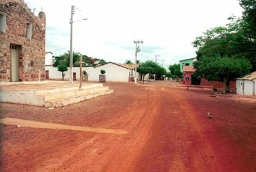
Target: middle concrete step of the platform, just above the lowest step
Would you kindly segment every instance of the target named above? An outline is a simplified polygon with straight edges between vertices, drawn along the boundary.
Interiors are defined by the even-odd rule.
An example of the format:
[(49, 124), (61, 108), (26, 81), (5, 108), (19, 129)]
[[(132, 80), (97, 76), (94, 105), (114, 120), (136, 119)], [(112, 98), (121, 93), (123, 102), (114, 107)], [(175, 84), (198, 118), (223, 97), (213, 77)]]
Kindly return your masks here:
[(48, 102), (50, 100), (55, 99), (63, 99), (73, 96), (79, 96), (84, 94), (91, 94), (99, 91), (108, 90), (108, 87), (94, 87), (85, 90), (74, 90), (74, 91), (65, 91), (65, 92), (57, 92), (57, 93), (50, 93), (50, 94), (41, 94), (40, 97), (44, 97), (44, 101)]

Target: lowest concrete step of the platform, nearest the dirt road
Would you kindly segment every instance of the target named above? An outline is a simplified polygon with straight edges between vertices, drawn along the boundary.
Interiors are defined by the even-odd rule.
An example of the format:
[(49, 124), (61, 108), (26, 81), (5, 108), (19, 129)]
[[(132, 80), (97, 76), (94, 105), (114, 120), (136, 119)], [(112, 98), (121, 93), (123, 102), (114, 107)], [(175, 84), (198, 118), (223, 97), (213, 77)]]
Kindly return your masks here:
[(84, 101), (90, 98), (95, 98), (102, 95), (107, 95), (113, 93), (113, 90), (100, 90), (93, 93), (87, 93), (87, 94), (80, 94), (75, 96), (70, 96), (66, 98), (59, 98), (50, 100), (47, 102), (44, 102), (45, 107), (61, 107), (61, 106), (67, 106), (69, 104), (78, 103), (80, 101)]

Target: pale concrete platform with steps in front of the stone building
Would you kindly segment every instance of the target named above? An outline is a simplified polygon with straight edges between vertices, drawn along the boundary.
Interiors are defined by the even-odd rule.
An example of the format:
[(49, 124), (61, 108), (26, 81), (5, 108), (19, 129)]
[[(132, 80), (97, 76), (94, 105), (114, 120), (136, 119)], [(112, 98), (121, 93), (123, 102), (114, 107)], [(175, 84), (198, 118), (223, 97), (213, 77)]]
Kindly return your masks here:
[(79, 82), (67, 81), (11, 84), (0, 86), (0, 102), (60, 107), (111, 93), (102, 83), (85, 83), (82, 88)]

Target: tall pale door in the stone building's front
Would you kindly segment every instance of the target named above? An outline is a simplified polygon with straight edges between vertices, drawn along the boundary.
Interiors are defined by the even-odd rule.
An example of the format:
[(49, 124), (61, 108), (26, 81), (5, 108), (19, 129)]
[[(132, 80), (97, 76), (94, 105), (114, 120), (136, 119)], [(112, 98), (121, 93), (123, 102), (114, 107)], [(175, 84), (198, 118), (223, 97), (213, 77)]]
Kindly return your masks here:
[(19, 47), (10, 45), (11, 49), (11, 82), (19, 81)]

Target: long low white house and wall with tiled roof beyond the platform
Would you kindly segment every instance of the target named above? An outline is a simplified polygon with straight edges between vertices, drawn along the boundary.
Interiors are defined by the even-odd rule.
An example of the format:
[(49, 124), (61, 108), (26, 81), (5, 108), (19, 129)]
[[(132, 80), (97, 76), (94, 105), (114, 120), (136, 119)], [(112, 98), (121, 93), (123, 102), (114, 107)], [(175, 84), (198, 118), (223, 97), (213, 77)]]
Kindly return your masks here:
[[(95, 67), (83, 67), (88, 74), (88, 81), (99, 82), (100, 70), (105, 70), (106, 82), (129, 82), (129, 77), (135, 77), (135, 65), (134, 64), (119, 64), (114, 62), (108, 62)], [(45, 73), (49, 75), (48, 79), (62, 79), (62, 73), (57, 70), (57, 67), (45, 66)], [(68, 71), (64, 72), (64, 79), (69, 79), (69, 67)], [(148, 79), (148, 74), (145, 79)], [(140, 73), (137, 72), (138, 80), (142, 79)], [(47, 77), (45, 77), (47, 78)], [(78, 80), (80, 78), (80, 67), (73, 67), (73, 78)]]

